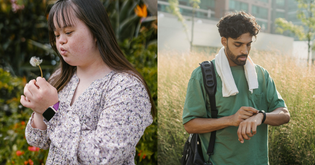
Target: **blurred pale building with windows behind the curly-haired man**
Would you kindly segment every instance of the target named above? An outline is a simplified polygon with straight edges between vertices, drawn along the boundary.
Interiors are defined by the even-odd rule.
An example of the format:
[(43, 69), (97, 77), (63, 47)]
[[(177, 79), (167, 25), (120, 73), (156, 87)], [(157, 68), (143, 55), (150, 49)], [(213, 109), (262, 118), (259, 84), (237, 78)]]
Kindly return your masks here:
[[(244, 10), (255, 16), (261, 26), (257, 41), (253, 47), (257, 50), (278, 49), (284, 54), (294, 55), (300, 59), (307, 59), (307, 54), (301, 54), (301, 47), (305, 47), (305, 41), (299, 41), (294, 34), (276, 34), (274, 20), (285, 18), (295, 25), (302, 25), (296, 17), (299, 9), (295, 0), (200, 0), (200, 8), (196, 10), (193, 30), (193, 48), (214, 52), (221, 45), (221, 37), (216, 24), (219, 19), (232, 11)], [(190, 50), (192, 7), (189, 0), (179, 0), (181, 14), (186, 19), (187, 32), (177, 17), (171, 14), (168, 0), (157, 0), (158, 10), (158, 48), (175, 49), (181, 52)], [(295, 50), (294, 50), (295, 49)], [(307, 49), (306, 49), (307, 52)], [(300, 53), (295, 55), (295, 53)]]

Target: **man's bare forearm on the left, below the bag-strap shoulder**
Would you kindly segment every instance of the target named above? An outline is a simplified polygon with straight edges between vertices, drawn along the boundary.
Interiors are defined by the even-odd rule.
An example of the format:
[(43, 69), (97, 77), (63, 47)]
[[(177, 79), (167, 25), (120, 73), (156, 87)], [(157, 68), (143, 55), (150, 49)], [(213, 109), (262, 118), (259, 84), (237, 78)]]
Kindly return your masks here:
[(231, 126), (230, 116), (222, 118), (194, 118), (184, 124), (189, 134), (203, 134)]

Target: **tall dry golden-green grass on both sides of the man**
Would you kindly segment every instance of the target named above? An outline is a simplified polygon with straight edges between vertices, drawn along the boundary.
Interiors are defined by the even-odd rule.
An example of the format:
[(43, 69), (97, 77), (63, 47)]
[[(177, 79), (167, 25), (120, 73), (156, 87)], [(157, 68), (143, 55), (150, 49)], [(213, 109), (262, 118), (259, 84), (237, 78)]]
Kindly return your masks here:
[[(189, 136), (182, 125), (189, 78), (198, 63), (212, 60), (215, 54), (164, 52), (157, 57), (157, 159), (159, 165), (177, 165)], [(315, 67), (309, 72), (294, 58), (277, 52), (252, 51), (250, 57), (269, 72), (291, 116), (288, 124), (269, 126), (269, 163), (315, 164)]]

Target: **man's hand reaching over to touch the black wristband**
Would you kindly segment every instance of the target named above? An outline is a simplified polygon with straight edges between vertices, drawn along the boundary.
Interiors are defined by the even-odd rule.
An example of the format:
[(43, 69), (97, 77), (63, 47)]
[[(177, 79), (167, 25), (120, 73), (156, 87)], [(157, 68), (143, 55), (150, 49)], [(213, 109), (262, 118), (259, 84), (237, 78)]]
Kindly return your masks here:
[(241, 107), (234, 115), (231, 116), (232, 125), (237, 127), (241, 122), (257, 113), (258, 110), (253, 107)]

